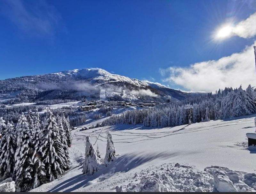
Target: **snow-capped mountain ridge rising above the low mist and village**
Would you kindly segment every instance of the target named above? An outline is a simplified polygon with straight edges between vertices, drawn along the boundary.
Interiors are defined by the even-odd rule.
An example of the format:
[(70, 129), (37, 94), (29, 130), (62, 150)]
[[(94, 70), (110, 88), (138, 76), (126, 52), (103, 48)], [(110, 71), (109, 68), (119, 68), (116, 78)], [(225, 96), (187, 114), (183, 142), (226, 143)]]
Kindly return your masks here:
[[(76, 83), (76, 84), (74, 84)], [(77, 87), (79, 83), (79, 87)], [(87, 84), (81, 86), (81, 84)], [(110, 93), (122, 93), (122, 90), (132, 91), (132, 95), (136, 93), (146, 93), (149, 97), (159, 96), (162, 101), (167, 98), (184, 99), (187, 93), (166, 87), (159, 83), (141, 81), (139, 79), (129, 78), (117, 74), (109, 73), (99, 68), (74, 69), (68, 71), (60, 71), (44, 75), (24, 76), (19, 78), (10, 78), (0, 80), (0, 93), (10, 93), (16, 91), (24, 91), (25, 89), (39, 90), (82, 90), (87, 91), (90, 86), (97, 87), (98, 90), (107, 88)], [(75, 86), (74, 86), (75, 85)], [(114, 86), (114, 87), (113, 87)], [(97, 92), (98, 92), (97, 90)], [(145, 90), (145, 91), (144, 91)], [(94, 91), (94, 90), (93, 90)], [(139, 92), (134, 92), (139, 91)], [(94, 91), (95, 92), (95, 91)], [(92, 91), (90, 91), (92, 94)], [(134, 94), (135, 93), (135, 94)], [(41, 95), (40, 95), (41, 96)], [(36, 97), (35, 97), (36, 98)], [(53, 97), (52, 97), (53, 98)], [(44, 100), (44, 99), (43, 99)]]

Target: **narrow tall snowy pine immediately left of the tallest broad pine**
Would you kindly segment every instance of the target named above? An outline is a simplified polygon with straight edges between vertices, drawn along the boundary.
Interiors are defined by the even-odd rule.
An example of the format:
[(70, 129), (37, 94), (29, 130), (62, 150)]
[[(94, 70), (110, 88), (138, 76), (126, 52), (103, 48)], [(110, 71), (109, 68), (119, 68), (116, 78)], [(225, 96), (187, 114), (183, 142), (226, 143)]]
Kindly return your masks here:
[(41, 123), (39, 118), (39, 113), (36, 109), (35, 115), (33, 117), (33, 123), (34, 123), (34, 139), (33, 139), (33, 146), (34, 146), (34, 153), (32, 156), (32, 162), (33, 162), (33, 189), (40, 186), (43, 183), (46, 183), (47, 180), (45, 179), (45, 169), (44, 169), (44, 163), (41, 161), (41, 153), (39, 151), (40, 145), (41, 145)]

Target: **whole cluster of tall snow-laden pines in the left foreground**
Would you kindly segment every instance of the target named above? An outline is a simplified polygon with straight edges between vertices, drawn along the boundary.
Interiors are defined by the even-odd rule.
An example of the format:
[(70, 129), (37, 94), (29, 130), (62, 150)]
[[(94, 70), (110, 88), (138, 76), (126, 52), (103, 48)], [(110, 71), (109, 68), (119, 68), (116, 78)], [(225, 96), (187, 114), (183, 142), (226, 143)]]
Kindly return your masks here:
[(12, 177), (16, 191), (28, 191), (60, 178), (70, 167), (68, 118), (48, 109), (42, 124), (39, 113), (21, 114), (17, 125), (0, 117), (0, 181)]

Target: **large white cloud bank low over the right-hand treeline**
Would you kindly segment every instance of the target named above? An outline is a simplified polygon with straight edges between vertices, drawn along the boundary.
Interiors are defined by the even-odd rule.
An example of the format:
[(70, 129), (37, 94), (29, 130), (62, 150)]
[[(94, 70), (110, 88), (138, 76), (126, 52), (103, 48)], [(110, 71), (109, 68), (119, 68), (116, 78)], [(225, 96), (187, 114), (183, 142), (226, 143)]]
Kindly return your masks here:
[[(254, 42), (256, 44), (256, 42)], [(254, 45), (253, 44), (253, 45)], [(253, 46), (252, 45), (252, 46)], [(219, 60), (204, 61), (188, 68), (160, 69), (163, 81), (183, 86), (189, 91), (214, 92), (225, 87), (256, 86), (256, 70), (253, 47)]]

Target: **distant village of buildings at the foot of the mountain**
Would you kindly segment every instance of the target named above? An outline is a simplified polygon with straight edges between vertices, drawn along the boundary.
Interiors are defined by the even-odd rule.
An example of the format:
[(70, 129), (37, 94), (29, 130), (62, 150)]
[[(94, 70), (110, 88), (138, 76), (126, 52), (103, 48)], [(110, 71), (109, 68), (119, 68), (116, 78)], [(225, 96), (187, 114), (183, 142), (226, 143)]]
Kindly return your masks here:
[(150, 103), (143, 103), (139, 102), (137, 104), (132, 103), (131, 101), (83, 101), (82, 106), (79, 107), (80, 111), (89, 111), (92, 109), (96, 108), (101, 108), (101, 107), (109, 107), (109, 106), (121, 106), (121, 107), (140, 107), (140, 108), (145, 108), (145, 107), (154, 107), (156, 103), (154, 101), (150, 101)]

